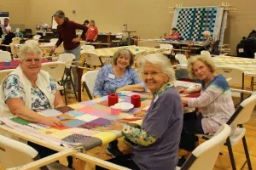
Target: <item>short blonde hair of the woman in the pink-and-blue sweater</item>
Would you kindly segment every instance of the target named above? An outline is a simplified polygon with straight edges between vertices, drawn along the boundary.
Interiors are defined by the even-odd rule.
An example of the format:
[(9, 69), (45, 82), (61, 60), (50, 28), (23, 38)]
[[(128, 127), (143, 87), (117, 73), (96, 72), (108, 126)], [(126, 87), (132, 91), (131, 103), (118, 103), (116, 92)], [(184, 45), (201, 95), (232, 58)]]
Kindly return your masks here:
[(210, 57), (205, 56), (205, 55), (196, 55), (195, 57), (191, 57), (188, 60), (189, 77), (197, 78), (197, 77), (195, 77), (195, 72), (193, 70), (193, 65), (195, 64), (196, 61), (203, 62), (205, 65), (207, 65), (207, 67), (210, 69), (210, 71), (212, 71), (212, 73), (215, 73), (216, 65), (214, 64), (213, 60)]

